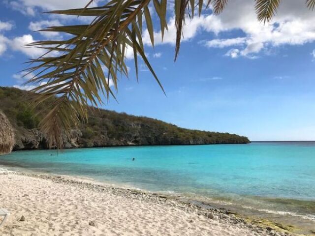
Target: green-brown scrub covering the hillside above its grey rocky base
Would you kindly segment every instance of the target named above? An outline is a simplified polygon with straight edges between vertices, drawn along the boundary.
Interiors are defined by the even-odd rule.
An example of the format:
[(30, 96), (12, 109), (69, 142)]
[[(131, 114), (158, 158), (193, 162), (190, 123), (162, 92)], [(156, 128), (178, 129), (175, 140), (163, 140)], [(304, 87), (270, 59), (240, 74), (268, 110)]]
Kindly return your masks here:
[[(35, 94), (31, 95), (35, 96)], [(56, 101), (55, 97), (51, 97), (31, 110), (29, 108), (31, 95), (27, 91), (0, 87), (0, 108), (12, 125), (21, 133), (25, 132), (23, 127), (36, 128), (38, 121), (47, 114), (47, 107)], [(142, 140), (148, 140), (150, 144), (162, 144), (163, 142), (169, 144), (169, 140), (173, 140), (173, 144), (186, 144), (194, 139), (204, 140), (205, 143), (249, 142), (246, 137), (235, 134), (189, 130), (153, 118), (95, 109), (89, 111), (88, 123), (80, 124), (79, 129), (82, 132), (84, 142), (86, 142), (84, 147), (93, 146), (92, 141), (99, 139), (101, 135), (107, 136), (109, 140), (125, 141), (129, 138), (132, 139), (135, 135), (140, 135)], [(155, 140), (160, 141), (156, 142)]]

